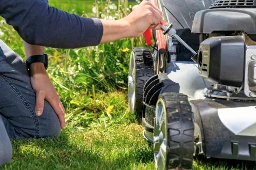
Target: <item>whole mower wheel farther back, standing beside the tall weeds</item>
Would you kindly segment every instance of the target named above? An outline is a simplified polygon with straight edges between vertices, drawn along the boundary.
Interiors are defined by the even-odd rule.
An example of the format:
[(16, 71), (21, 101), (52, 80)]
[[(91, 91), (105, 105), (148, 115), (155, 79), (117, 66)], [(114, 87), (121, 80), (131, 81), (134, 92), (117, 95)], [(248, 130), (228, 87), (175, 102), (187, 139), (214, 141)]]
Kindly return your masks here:
[(133, 48), (130, 55), (128, 76), (129, 110), (141, 118), (143, 109), (143, 88), (153, 76), (153, 59), (149, 48)]

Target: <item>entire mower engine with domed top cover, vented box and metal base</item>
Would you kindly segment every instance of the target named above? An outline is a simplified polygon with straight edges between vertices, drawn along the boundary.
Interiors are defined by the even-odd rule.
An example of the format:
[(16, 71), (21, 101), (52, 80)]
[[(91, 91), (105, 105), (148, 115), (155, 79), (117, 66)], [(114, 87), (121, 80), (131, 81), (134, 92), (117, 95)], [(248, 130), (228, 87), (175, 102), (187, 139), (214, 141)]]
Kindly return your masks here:
[(256, 1), (217, 0), (196, 13), (191, 32), (200, 34), (199, 74), (213, 83), (204, 95), (256, 100)]

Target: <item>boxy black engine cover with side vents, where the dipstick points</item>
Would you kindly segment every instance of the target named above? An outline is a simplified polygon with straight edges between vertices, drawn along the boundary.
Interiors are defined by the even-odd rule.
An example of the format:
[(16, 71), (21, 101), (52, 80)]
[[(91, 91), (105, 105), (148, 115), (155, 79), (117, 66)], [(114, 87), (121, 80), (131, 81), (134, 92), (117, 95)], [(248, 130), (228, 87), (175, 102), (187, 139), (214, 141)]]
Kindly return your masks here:
[(243, 83), (245, 43), (242, 36), (205, 39), (199, 47), (199, 74), (212, 83), (240, 87)]

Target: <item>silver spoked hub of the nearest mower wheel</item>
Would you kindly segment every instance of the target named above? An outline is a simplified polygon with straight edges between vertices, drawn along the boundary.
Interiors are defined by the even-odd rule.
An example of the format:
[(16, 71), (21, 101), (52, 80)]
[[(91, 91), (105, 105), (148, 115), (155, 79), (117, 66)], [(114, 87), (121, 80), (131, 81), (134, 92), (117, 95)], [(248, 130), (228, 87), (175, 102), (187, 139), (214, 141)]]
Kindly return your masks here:
[(156, 104), (154, 123), (154, 159), (156, 169), (166, 169), (167, 160), (166, 109), (162, 99)]

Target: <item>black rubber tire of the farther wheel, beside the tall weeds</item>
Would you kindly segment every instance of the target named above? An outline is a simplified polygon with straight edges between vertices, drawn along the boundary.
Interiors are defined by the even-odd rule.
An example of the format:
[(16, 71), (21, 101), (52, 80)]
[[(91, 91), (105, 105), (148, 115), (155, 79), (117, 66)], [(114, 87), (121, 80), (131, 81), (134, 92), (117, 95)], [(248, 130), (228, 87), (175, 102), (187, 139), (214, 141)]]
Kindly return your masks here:
[[(149, 48), (133, 48), (132, 53), (134, 54), (135, 60), (135, 104), (134, 108), (129, 107), (130, 111), (135, 111), (141, 117), (143, 109), (143, 88), (145, 82), (153, 76), (153, 59), (152, 53)], [(132, 61), (131, 54), (131, 61)], [(131, 69), (131, 64), (129, 69)], [(130, 86), (128, 86), (129, 91)], [(129, 100), (130, 101), (130, 100)], [(129, 104), (130, 106), (130, 104)]]

